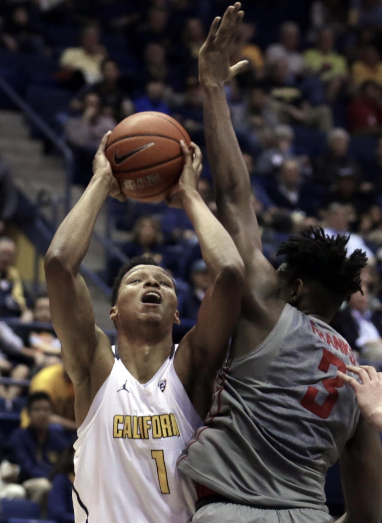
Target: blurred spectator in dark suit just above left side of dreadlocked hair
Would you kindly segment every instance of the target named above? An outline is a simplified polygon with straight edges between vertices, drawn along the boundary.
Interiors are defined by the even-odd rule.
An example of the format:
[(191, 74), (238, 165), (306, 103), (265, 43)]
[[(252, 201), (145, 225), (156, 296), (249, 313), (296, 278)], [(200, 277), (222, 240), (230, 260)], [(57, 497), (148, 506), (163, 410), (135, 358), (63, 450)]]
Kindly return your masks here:
[(265, 180), (272, 207), (290, 211), (303, 211), (308, 216), (316, 214), (317, 195), (310, 184), (304, 182), (297, 160), (285, 160), (275, 177)]

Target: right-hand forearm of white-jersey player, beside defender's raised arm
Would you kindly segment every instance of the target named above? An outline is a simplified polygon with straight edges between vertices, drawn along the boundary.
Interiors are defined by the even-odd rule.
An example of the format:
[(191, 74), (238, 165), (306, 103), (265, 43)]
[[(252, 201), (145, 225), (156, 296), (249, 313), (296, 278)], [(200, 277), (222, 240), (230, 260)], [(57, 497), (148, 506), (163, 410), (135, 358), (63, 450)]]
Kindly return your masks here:
[(211, 275), (216, 277), (227, 268), (244, 274), (244, 264), (234, 241), (199, 193), (187, 192), (182, 197), (182, 204), (198, 236), (202, 257)]

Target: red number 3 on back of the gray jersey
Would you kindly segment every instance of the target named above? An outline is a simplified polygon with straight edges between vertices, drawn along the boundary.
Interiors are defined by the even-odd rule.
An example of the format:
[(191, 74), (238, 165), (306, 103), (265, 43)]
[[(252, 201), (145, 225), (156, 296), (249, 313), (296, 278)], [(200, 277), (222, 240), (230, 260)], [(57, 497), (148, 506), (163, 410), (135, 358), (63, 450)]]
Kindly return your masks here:
[[(342, 360), (337, 358), (337, 356), (334, 356), (334, 354), (329, 350), (322, 349), (322, 358), (318, 368), (319, 370), (322, 370), (322, 372), (328, 372), (330, 365), (334, 365), (343, 373), (346, 372), (346, 366)], [(320, 418), (326, 419), (329, 417), (335, 402), (338, 400), (337, 389), (342, 387), (343, 381), (339, 377), (325, 378), (321, 383), (329, 393), (322, 405), (315, 402), (319, 390), (312, 386), (308, 387), (305, 396), (301, 400), (301, 404), (303, 407), (307, 408), (308, 411), (316, 414)]]

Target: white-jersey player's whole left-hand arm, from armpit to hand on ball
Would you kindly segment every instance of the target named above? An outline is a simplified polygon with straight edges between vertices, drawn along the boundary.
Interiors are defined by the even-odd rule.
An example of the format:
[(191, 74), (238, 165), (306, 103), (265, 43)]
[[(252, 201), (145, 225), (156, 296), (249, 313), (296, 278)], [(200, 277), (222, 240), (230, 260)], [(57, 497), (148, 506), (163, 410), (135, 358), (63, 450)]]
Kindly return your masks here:
[(95, 325), (89, 291), (79, 274), (102, 204), (108, 196), (124, 199), (104, 153), (107, 139), (108, 134), (95, 156), (94, 176), (57, 229), (44, 264), (52, 323), (62, 345), (65, 370), (76, 390), (77, 423), (86, 416), (92, 396), (113, 363), (109, 340)]

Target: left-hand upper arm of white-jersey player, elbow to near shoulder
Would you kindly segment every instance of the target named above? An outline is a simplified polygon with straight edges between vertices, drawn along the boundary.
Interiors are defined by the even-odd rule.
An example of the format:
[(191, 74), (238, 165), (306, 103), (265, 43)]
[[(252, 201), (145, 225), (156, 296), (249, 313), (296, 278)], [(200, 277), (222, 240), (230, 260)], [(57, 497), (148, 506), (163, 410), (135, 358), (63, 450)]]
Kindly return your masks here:
[[(88, 372), (98, 344), (94, 311), (82, 276), (45, 269), (52, 324), (71, 374)], [(73, 376), (71, 376), (73, 378)]]

